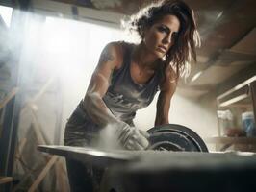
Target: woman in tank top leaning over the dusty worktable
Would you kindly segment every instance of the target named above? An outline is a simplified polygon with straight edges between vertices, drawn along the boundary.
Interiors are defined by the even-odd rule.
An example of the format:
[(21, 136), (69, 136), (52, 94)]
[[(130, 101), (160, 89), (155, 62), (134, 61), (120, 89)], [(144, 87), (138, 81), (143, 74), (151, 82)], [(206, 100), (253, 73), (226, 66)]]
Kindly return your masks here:
[[(86, 96), (66, 124), (65, 145), (90, 146), (100, 131), (109, 129), (108, 135), (113, 135), (109, 142), (115, 140), (128, 150), (145, 149), (147, 135), (134, 127), (133, 119), (158, 90), (155, 126), (168, 123), (178, 79), (190, 56), (196, 60), (199, 36), (192, 9), (182, 1), (151, 4), (131, 17), (130, 29), (141, 36), (141, 43), (111, 42), (104, 48)], [(77, 176), (82, 170), (78, 164), (67, 159), (71, 188), (91, 190), (91, 170), (82, 171), (86, 176)], [(84, 179), (79, 182), (78, 178)]]

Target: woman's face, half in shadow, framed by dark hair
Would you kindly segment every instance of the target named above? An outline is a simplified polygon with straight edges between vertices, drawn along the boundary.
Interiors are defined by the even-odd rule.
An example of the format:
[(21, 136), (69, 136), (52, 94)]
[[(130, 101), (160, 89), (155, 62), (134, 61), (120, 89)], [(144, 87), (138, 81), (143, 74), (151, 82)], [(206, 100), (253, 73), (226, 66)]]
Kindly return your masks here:
[(165, 15), (145, 30), (146, 49), (157, 58), (163, 58), (178, 35), (180, 21), (175, 15)]

